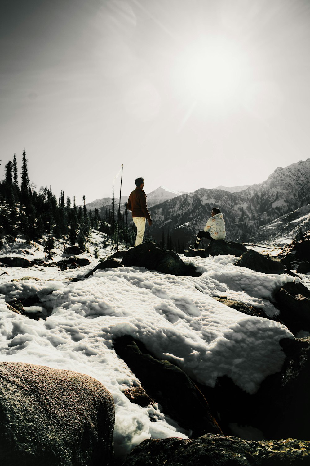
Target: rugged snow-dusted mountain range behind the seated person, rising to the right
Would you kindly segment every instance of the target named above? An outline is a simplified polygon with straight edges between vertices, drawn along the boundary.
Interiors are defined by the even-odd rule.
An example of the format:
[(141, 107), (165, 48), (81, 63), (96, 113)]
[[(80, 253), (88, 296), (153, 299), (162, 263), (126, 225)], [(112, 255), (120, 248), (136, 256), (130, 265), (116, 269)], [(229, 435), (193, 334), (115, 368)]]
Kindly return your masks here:
[[(309, 203), (310, 158), (277, 168), (264, 183), (241, 192), (200, 188), (152, 206), (152, 234), (159, 239), (164, 225), (174, 240), (192, 241), (211, 216), (212, 207), (219, 207), (224, 213), (227, 239), (248, 240), (260, 226)], [(178, 227), (186, 224), (181, 232)]]

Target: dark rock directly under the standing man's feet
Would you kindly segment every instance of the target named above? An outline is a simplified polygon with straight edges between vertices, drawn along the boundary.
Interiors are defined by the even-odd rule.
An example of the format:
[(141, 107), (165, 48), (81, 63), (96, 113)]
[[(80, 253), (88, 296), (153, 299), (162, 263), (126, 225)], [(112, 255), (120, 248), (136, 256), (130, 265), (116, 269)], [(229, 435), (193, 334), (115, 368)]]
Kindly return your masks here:
[(145, 242), (127, 251), (121, 262), (125, 267), (145, 267), (164, 274), (198, 277), (195, 267), (186, 265), (174, 251), (160, 249), (155, 243)]

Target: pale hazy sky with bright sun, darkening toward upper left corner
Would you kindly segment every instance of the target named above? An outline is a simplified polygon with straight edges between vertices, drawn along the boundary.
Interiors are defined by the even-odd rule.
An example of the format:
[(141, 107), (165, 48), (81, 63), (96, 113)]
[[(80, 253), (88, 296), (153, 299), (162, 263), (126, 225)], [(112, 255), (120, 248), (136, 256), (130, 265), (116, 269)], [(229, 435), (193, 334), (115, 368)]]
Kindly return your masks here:
[(308, 0), (4, 0), (0, 21), (0, 179), (24, 147), (37, 188), (77, 202), (121, 164), (129, 194), (309, 158)]

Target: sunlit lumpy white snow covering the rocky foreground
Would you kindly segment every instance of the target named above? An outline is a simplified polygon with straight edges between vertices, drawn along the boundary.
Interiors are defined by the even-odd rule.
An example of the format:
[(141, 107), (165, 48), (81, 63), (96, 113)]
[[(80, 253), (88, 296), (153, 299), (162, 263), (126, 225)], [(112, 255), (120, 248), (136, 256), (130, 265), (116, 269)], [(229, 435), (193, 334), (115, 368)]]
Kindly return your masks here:
[[(15, 253), (11, 245), (10, 254), (26, 250), (22, 242), (14, 248)], [(40, 247), (27, 249), (42, 257)], [(110, 248), (104, 250), (106, 255), (111, 252)], [(1, 250), (1, 255), (7, 253), (8, 247)], [(61, 256), (59, 251), (54, 260)], [(293, 277), (236, 267), (237, 258), (229, 255), (181, 258), (202, 275), (177, 277), (125, 267), (98, 270), (86, 280), (72, 282), (98, 263), (93, 258), (89, 266), (65, 271), (43, 266), (0, 267), (0, 360), (75, 370), (102, 382), (115, 402), (118, 457), (144, 439), (186, 438), (189, 432), (166, 417), (157, 404), (141, 408), (125, 397), (124, 389), (139, 385), (139, 380), (114, 352), (113, 338), (134, 336), (157, 357), (178, 364), (205, 385), (214, 386), (216, 378), (226, 374), (249, 393), (281, 368), (284, 353), (279, 341), (293, 338), (278, 322), (244, 315), (213, 299), (226, 296), (274, 315), (277, 309), (269, 300)], [(307, 283), (309, 286), (310, 280)], [(33, 295), (52, 311), (46, 320), (30, 320), (7, 308), (10, 300)]]

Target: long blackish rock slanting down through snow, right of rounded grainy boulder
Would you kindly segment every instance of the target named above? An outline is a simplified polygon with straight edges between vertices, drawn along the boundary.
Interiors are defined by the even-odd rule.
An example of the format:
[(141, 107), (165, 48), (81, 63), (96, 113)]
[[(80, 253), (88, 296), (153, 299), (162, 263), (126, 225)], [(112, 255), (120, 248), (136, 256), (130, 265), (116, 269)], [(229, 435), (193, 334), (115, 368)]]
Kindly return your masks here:
[(156, 359), (143, 343), (131, 336), (117, 338), (113, 346), (147, 393), (180, 426), (194, 431), (193, 436), (222, 432), (201, 391), (183, 370), (169, 361)]

